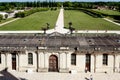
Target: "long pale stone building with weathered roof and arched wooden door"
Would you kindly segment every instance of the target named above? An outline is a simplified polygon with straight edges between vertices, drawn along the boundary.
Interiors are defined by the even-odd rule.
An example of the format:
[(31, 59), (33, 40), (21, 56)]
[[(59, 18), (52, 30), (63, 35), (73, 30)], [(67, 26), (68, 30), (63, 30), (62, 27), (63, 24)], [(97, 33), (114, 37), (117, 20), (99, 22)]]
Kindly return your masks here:
[(0, 70), (120, 72), (119, 35), (0, 35)]

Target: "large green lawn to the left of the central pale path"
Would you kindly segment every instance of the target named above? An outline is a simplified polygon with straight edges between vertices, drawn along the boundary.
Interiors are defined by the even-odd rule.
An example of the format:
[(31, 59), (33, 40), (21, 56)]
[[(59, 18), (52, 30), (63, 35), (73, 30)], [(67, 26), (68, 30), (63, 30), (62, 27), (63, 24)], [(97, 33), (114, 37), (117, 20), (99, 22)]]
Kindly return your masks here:
[(40, 30), (41, 27), (46, 27), (46, 23), (49, 23), (50, 28), (53, 28), (58, 14), (59, 10), (37, 12), (25, 18), (21, 18), (17, 21), (4, 25), (0, 27), (0, 30)]

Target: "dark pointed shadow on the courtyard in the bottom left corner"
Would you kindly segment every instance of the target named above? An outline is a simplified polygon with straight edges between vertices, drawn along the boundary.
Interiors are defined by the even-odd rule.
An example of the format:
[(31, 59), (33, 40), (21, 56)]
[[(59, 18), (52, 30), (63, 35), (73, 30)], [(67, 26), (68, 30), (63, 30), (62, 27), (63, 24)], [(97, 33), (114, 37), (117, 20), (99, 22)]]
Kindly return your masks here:
[(7, 68), (0, 71), (0, 75), (1, 75), (0, 80), (27, 80), (25, 78), (20, 78), (20, 79), (16, 78), (14, 75), (12, 75), (7, 71)]

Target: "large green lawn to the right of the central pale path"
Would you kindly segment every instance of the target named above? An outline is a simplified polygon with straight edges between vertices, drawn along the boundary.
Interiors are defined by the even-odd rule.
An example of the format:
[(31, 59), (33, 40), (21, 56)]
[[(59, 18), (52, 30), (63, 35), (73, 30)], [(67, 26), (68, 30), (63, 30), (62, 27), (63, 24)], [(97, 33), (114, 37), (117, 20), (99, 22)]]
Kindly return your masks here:
[(65, 10), (65, 27), (72, 22), (77, 30), (120, 30), (120, 26), (105, 21), (102, 18), (93, 18), (81, 11)]

